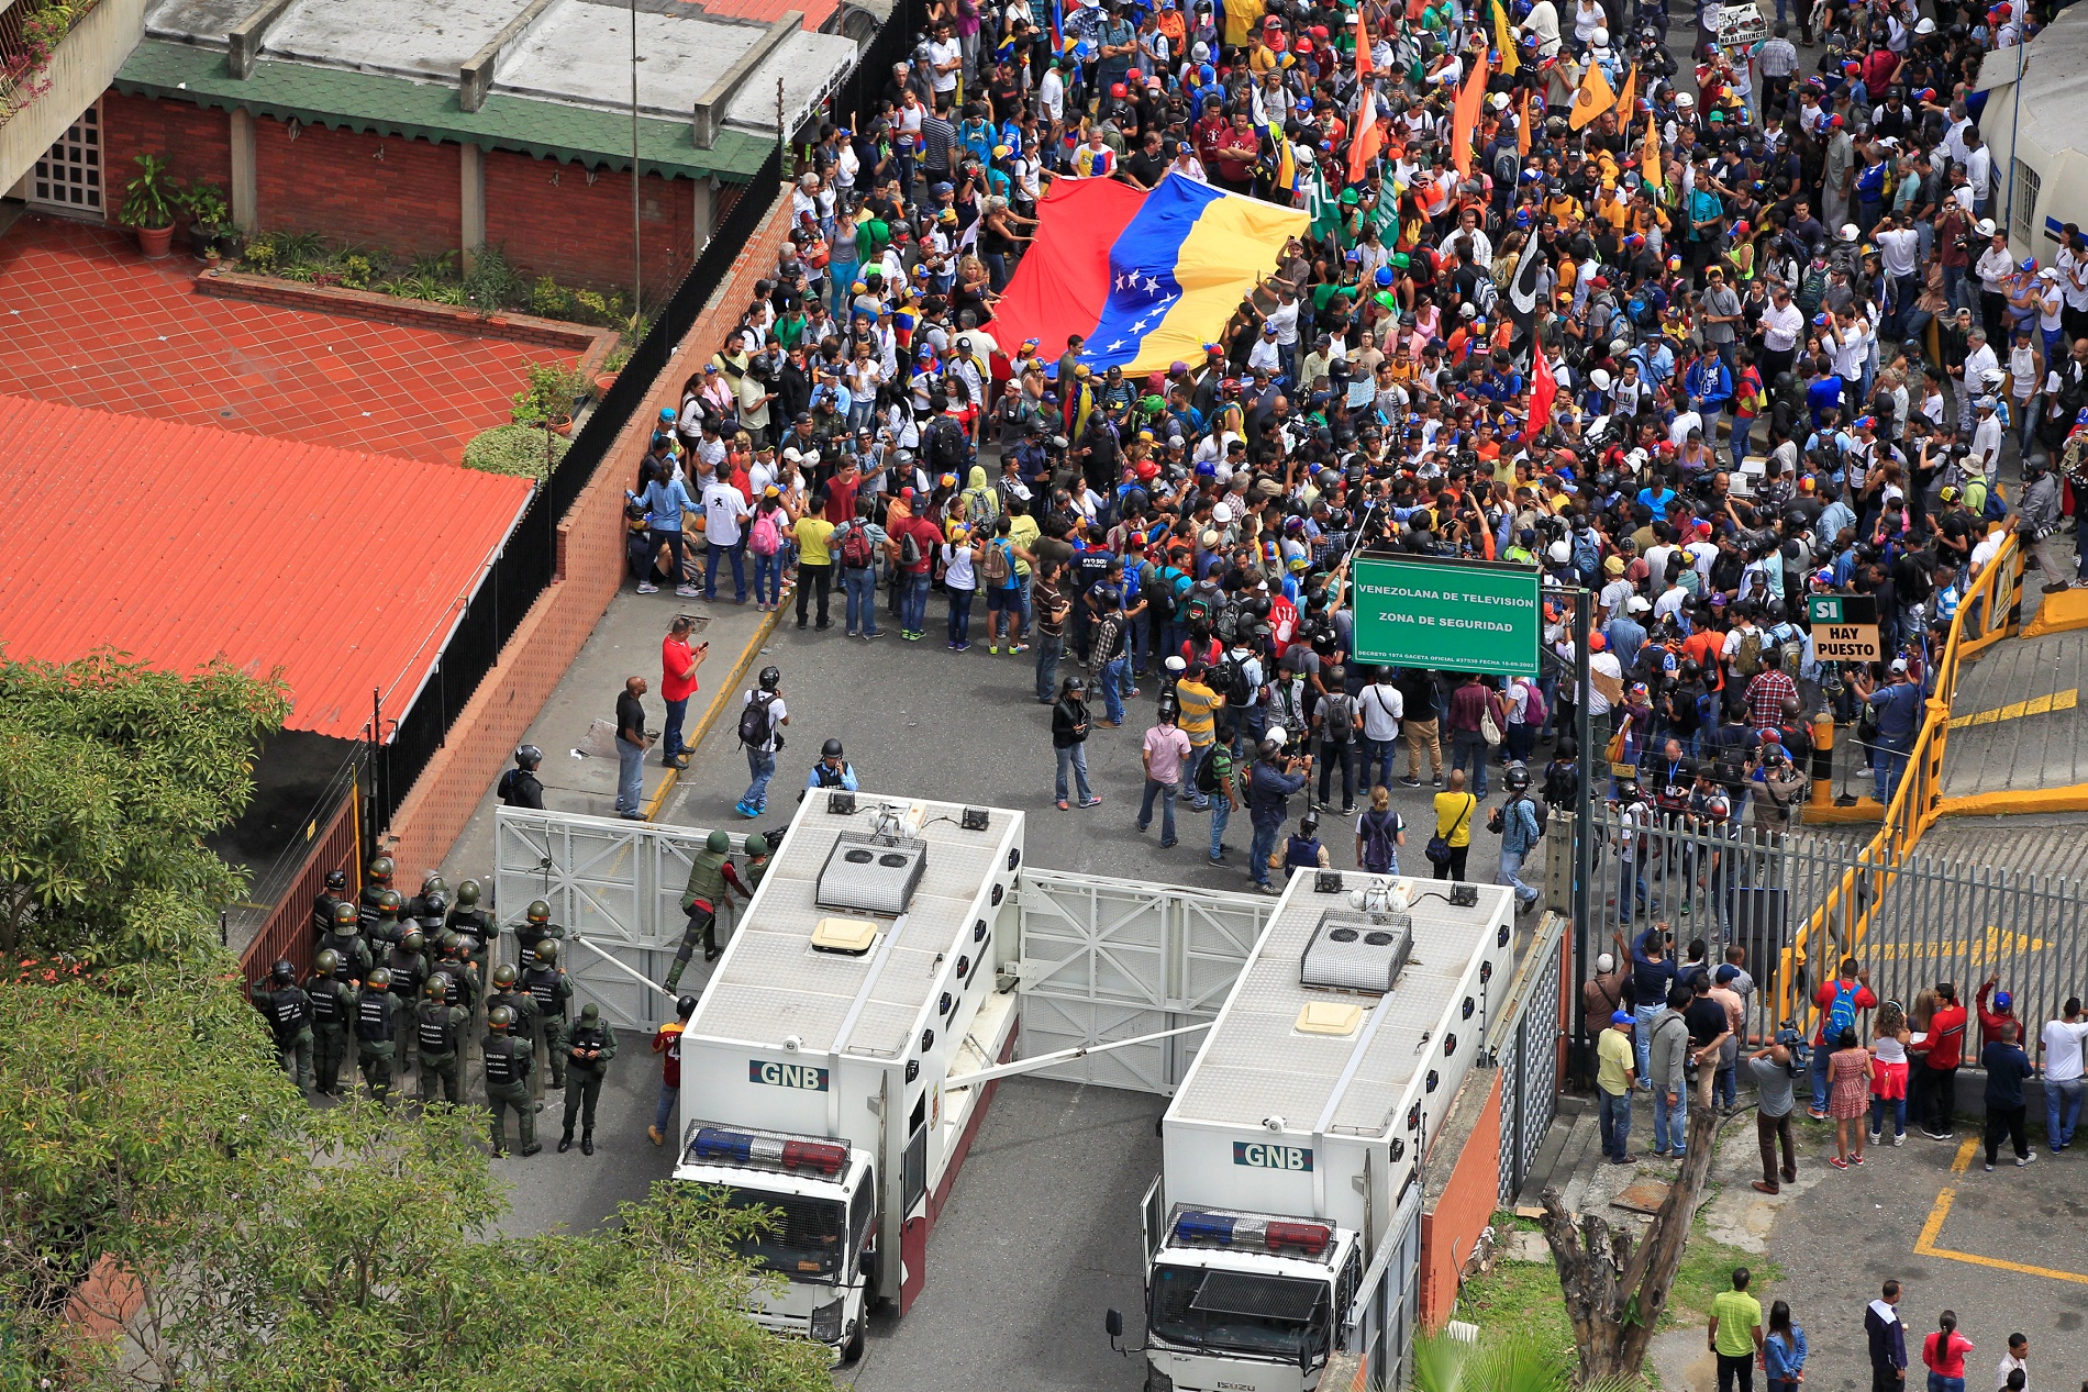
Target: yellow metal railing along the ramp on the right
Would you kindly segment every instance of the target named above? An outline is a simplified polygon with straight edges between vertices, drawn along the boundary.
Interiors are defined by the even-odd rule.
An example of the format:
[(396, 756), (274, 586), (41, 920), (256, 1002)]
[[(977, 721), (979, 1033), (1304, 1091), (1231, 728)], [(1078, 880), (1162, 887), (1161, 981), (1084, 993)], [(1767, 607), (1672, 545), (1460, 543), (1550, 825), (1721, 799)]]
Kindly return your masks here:
[(1862, 950), (1871, 912), (1892, 885), (1902, 858), (1936, 824), (1944, 789), (1944, 745), (1950, 737), (1950, 701), (1961, 664), (2009, 634), (2023, 620), (2023, 549), (2009, 536), (1994, 559), (1973, 576), (1950, 618), (1950, 634), (1936, 662), (1936, 682), (1906, 755), (1906, 772), (1892, 793), (1877, 835), (1856, 856), (1856, 864), (1827, 891), (1812, 916), (1783, 950), (1777, 970), (1777, 1018), (1804, 1021), (1812, 1029), (1812, 1004), (1798, 991), (1798, 973), (1814, 956), (1837, 962)]

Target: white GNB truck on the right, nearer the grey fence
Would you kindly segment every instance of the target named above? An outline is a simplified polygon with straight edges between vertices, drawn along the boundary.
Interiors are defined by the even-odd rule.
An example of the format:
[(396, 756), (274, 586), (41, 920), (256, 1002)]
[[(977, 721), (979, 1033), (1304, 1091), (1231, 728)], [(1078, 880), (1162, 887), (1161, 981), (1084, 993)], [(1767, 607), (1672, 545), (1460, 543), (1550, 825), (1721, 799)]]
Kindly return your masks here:
[(1336, 1348), (1393, 1386), (1420, 1167), (1512, 966), (1503, 887), (1290, 881), (1161, 1121), (1148, 1392), (1309, 1392)]

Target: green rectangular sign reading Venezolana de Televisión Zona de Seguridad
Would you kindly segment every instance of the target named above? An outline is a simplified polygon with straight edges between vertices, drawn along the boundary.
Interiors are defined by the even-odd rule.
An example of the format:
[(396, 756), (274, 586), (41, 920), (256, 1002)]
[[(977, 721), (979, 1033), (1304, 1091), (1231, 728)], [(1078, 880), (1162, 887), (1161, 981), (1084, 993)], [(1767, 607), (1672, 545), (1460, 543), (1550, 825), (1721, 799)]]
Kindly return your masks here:
[(1535, 566), (1426, 555), (1355, 557), (1355, 659), (1439, 672), (1537, 672)]

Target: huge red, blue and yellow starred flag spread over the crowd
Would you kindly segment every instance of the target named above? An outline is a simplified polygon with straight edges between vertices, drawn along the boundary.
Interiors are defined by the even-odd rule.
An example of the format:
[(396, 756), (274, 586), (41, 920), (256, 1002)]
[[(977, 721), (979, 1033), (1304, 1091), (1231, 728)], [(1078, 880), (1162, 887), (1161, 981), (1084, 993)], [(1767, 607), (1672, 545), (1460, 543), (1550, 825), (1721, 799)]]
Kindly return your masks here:
[(1163, 371), (1203, 361), (1307, 215), (1169, 173), (1148, 194), (1057, 179), (1038, 221), (994, 315), (1000, 346), (1036, 338), (1052, 361), (1079, 334), (1079, 361), (1096, 371)]

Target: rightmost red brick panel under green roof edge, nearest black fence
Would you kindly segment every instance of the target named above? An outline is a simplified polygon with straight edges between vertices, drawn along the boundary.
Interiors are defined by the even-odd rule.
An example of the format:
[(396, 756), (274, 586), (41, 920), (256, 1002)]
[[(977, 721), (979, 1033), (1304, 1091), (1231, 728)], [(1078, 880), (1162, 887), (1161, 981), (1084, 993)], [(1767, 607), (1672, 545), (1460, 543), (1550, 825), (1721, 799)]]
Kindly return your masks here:
[[(489, 150), (484, 169), (489, 246), (528, 275), (601, 290), (631, 286), (628, 173), (514, 150)], [(695, 184), (649, 173), (639, 198), (645, 296), (656, 298), (695, 261)]]

